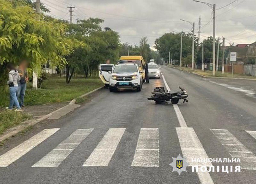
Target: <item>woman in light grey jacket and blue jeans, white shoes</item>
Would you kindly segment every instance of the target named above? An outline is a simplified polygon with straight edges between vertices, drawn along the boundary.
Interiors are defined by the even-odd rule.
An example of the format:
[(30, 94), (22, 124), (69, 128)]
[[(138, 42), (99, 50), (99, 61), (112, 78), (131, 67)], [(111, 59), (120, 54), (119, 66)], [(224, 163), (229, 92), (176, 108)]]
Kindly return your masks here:
[(18, 81), (20, 80), (20, 75), (15, 69), (14, 65), (11, 63), (7, 65), (7, 69), (9, 70), (9, 80), (7, 84), (10, 86), (10, 106), (6, 107), (6, 109), (12, 110), (13, 105), (15, 105), (17, 107), (15, 111), (21, 111), (20, 104), (17, 99), (17, 92), (19, 90)]

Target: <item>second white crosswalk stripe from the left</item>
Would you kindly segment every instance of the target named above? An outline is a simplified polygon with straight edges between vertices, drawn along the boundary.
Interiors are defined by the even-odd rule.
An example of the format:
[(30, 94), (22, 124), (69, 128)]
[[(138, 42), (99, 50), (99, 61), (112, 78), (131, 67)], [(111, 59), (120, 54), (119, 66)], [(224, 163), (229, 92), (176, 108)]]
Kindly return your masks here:
[(58, 167), (92, 130), (93, 129), (77, 129), (32, 167)]

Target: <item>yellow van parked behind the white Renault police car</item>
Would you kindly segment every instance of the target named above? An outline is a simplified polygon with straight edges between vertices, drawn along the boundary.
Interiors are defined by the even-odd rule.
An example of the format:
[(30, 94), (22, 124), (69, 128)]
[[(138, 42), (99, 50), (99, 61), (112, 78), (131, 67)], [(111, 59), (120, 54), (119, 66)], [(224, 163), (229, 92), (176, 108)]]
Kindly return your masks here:
[(139, 67), (140, 72), (141, 72), (140, 75), (142, 77), (142, 81), (145, 80), (145, 70), (144, 70), (145, 61), (144, 61), (142, 56), (140, 56), (140, 55), (121, 56), (119, 63), (120, 64), (136, 63)]

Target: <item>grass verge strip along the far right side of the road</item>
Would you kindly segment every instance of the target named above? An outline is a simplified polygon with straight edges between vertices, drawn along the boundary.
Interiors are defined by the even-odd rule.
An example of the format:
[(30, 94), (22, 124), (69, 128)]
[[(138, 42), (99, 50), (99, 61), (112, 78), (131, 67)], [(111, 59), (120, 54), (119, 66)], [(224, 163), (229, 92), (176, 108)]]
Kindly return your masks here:
[[(180, 67), (172, 67), (172, 68), (176, 68), (176, 69), (180, 69)], [(181, 70), (183, 71), (187, 71), (187, 72), (194, 72), (197, 73), (199, 75), (203, 75), (205, 77), (213, 77), (212, 75), (212, 71), (202, 71), (202, 70), (191, 70), (190, 68), (186, 68), (186, 67), (181, 67)], [(256, 79), (256, 77), (253, 76), (249, 76), (249, 75), (241, 75), (241, 74), (234, 74), (232, 75), (232, 73), (224, 73), (222, 74), (221, 71), (216, 71), (216, 76), (214, 77), (230, 77), (230, 78), (250, 78), (250, 79)]]

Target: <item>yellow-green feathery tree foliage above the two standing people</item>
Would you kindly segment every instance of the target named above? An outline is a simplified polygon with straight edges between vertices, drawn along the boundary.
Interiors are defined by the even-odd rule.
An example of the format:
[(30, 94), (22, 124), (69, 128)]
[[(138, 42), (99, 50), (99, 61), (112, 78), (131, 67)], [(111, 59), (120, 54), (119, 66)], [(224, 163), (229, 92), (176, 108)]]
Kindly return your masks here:
[(41, 66), (48, 60), (55, 66), (66, 64), (65, 56), (81, 45), (65, 37), (67, 24), (46, 21), (43, 15), (37, 21), (38, 15), (29, 6), (13, 6), (5, 0), (0, 0), (0, 4), (0, 70), (4, 70), (8, 62), (18, 64), (25, 59), (30, 62), (30, 68), (40, 73)]

